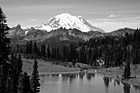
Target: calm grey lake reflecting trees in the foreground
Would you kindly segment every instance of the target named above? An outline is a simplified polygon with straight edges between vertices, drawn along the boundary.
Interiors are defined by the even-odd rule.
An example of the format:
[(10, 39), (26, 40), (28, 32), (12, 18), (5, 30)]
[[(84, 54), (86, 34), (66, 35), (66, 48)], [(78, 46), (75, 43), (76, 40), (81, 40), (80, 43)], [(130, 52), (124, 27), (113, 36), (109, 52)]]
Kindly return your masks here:
[(140, 93), (140, 87), (98, 73), (40, 75), (41, 93)]

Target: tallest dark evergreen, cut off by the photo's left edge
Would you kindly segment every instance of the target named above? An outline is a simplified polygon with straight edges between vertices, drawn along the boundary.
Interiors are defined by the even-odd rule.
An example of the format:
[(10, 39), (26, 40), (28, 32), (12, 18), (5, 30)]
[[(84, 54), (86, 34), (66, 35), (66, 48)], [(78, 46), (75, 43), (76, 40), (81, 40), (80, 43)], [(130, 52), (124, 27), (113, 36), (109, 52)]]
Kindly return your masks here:
[(8, 55), (10, 53), (10, 39), (6, 37), (9, 27), (6, 17), (0, 7), (0, 93), (6, 93), (6, 80), (8, 73)]

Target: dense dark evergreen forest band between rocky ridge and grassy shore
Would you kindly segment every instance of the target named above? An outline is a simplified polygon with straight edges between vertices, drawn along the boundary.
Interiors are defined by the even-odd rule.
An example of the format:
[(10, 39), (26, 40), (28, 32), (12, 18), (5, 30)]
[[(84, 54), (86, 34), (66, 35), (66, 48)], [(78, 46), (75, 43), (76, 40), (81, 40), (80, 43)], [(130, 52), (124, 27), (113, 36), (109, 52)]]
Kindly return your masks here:
[[(130, 64), (140, 64), (140, 30), (125, 36), (104, 36), (87, 42), (51, 46), (28, 41), (21, 50), (24, 55), (36, 54), (45, 59), (61, 62), (85, 63), (93, 67), (125, 66), (124, 78), (130, 77)], [(20, 50), (20, 51), (21, 51)], [(125, 73), (126, 72), (126, 73)]]

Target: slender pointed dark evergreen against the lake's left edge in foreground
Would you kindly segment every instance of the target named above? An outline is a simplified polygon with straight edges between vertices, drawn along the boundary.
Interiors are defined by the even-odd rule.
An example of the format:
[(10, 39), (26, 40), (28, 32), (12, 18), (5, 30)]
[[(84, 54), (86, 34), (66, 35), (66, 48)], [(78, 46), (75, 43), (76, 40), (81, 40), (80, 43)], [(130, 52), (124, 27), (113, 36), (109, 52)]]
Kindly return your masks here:
[(39, 74), (38, 74), (38, 62), (37, 59), (34, 59), (34, 65), (33, 65), (33, 72), (31, 76), (31, 93), (39, 93)]

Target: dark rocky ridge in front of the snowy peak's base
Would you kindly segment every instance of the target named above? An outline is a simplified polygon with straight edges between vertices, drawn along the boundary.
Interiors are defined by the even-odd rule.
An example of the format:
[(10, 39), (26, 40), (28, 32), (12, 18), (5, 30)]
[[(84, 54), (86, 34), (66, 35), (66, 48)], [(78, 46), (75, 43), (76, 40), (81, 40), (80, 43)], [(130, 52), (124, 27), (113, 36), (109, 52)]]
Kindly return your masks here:
[[(30, 29), (22, 29), (21, 26), (13, 27), (9, 30), (9, 37), (14, 38), (19, 42), (37, 40), (38, 42), (44, 41), (87, 41), (91, 38), (105, 37), (105, 36), (124, 36), (126, 33), (133, 34), (135, 29), (121, 28), (110, 33), (102, 33), (99, 31), (82, 32), (78, 29), (65, 29), (59, 28), (47, 32), (46, 30), (39, 30), (31, 27)], [(15, 39), (16, 38), (16, 39)]]

